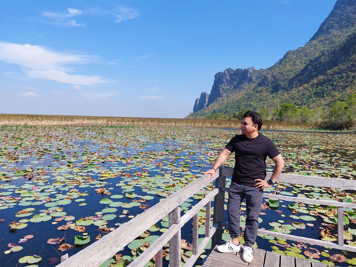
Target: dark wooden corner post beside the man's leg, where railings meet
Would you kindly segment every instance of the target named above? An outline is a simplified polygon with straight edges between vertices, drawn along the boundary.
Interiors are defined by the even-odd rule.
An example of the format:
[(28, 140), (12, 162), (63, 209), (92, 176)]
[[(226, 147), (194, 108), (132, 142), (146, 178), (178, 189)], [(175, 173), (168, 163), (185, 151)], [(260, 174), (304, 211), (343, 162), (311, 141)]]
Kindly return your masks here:
[[(225, 201), (225, 191), (222, 188), (225, 187), (226, 176), (221, 176), (221, 168), (219, 169), (219, 177), (215, 180), (215, 188), (219, 188), (219, 193), (214, 197), (214, 216), (213, 224), (223, 223), (224, 219), (224, 201)], [(216, 243), (223, 238), (223, 226), (219, 225), (211, 240), (211, 249), (214, 249)]]

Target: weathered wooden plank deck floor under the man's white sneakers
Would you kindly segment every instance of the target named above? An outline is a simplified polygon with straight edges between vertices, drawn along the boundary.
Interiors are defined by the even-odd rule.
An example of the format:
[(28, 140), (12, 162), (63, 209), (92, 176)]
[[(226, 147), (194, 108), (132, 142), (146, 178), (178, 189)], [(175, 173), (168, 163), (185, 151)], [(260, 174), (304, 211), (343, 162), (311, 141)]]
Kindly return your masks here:
[(204, 262), (203, 267), (327, 267), (320, 262), (310, 262), (302, 258), (279, 255), (278, 253), (255, 248), (253, 250), (253, 261), (250, 263), (242, 261), (241, 252), (221, 253), (216, 246)]

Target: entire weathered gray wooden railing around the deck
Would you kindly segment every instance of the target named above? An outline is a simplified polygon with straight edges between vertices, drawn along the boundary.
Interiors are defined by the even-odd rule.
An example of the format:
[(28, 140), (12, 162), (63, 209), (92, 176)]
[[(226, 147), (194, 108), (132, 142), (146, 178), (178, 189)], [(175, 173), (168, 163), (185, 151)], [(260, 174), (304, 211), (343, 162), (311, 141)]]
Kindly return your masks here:
[[(105, 235), (98, 241), (95, 241), (90, 246), (79, 251), (77, 254), (68, 258), (62, 256), (62, 262), (58, 266), (99, 266), (104, 261), (111, 258), (117, 251), (128, 245), (137, 236), (145, 232), (152, 225), (157, 223), (167, 214), (169, 215), (169, 228), (166, 230), (153, 244), (148, 247), (141, 255), (130, 263), (131, 266), (144, 266), (152, 257), (155, 256), (155, 265), (162, 266), (162, 247), (169, 241), (169, 266), (181, 266), (181, 234), (180, 228), (193, 218), (193, 255), (185, 263), (184, 266), (193, 266), (195, 261), (204, 250), (210, 239), (211, 246), (221, 240), (223, 227), (227, 227), (227, 224), (223, 221), (224, 217), (224, 200), (226, 188), (226, 176), (232, 176), (232, 168), (221, 168), (219, 172), (215, 173), (213, 179), (210, 180), (210, 175), (204, 175), (199, 179), (188, 184), (179, 191), (169, 195), (166, 199), (160, 201), (150, 209), (144, 211), (140, 215), (131, 219), (127, 223), (121, 225), (116, 230)], [(272, 173), (267, 173), (269, 178)], [(193, 206), (187, 213), (180, 216), (180, 205), (192, 197), (199, 190), (206, 187), (209, 183), (215, 180), (215, 188), (201, 199), (199, 203)], [(301, 176), (295, 174), (281, 174), (278, 182), (290, 183), (290, 184), (303, 184), (318, 187), (328, 187), (336, 189), (348, 189), (356, 191), (356, 181), (312, 176)], [(294, 236), (289, 234), (283, 234), (278, 232), (272, 232), (268, 230), (258, 229), (258, 234), (269, 235), (273, 237), (281, 237), (293, 241), (301, 241), (313, 245), (320, 245), (325, 247), (337, 248), (347, 251), (356, 252), (355, 246), (344, 244), (344, 223), (343, 223), (343, 209), (344, 208), (356, 208), (356, 204), (344, 203), (331, 200), (319, 200), (310, 198), (297, 198), (288, 197), (285, 195), (275, 195), (264, 193), (265, 198), (280, 199), (292, 202), (302, 202), (306, 204), (319, 204), (319, 205), (332, 205), (337, 206), (338, 216), (338, 243), (310, 239), (307, 237)], [(210, 203), (214, 198), (214, 212), (213, 212), (213, 225), (210, 227)], [(206, 207), (205, 218), (205, 237), (198, 245), (198, 212), (202, 208)], [(244, 227), (241, 227), (244, 229)]]

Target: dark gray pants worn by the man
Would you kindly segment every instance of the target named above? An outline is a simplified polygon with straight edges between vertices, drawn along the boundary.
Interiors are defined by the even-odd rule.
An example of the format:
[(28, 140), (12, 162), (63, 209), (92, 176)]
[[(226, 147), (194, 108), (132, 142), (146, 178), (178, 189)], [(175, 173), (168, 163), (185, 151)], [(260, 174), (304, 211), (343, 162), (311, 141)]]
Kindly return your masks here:
[(227, 221), (231, 238), (240, 237), (240, 205), (246, 202), (245, 246), (255, 244), (258, 229), (258, 216), (261, 212), (263, 190), (231, 181), (227, 201)]

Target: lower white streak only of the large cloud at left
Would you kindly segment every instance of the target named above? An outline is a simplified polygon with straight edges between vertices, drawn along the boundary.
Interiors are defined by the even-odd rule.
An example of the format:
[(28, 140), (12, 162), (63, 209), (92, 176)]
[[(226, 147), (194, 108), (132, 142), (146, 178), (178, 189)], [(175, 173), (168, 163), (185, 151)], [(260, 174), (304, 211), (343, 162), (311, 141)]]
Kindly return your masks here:
[(27, 76), (30, 78), (48, 79), (55, 80), (61, 83), (71, 83), (80, 85), (94, 85), (109, 82), (109, 80), (101, 79), (100, 76), (69, 75), (66, 72), (54, 69), (30, 70), (29, 72), (27, 72)]

